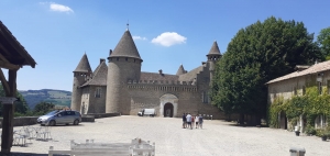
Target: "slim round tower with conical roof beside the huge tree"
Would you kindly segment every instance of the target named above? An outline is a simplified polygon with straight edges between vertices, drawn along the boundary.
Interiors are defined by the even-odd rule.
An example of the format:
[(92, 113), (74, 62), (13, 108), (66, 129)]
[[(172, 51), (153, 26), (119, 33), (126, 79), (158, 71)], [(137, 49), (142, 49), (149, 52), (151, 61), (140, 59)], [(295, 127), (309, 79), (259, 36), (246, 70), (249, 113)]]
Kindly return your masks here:
[(209, 70), (210, 70), (210, 82), (212, 81), (212, 78), (213, 78), (216, 63), (221, 58), (221, 56), (222, 55), (218, 47), (218, 43), (217, 43), (217, 41), (215, 41), (209, 54), (207, 55), (207, 57), (208, 57), (207, 63), (208, 63)]

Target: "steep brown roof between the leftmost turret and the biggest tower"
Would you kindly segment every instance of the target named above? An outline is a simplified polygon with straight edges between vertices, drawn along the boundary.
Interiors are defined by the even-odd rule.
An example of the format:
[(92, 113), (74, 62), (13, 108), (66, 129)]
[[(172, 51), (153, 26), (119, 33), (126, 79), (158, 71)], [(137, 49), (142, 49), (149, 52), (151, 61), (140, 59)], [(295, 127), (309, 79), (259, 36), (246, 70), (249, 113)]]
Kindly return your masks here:
[(92, 78), (85, 82), (85, 86), (107, 86), (108, 66), (106, 60), (102, 62), (92, 73)]

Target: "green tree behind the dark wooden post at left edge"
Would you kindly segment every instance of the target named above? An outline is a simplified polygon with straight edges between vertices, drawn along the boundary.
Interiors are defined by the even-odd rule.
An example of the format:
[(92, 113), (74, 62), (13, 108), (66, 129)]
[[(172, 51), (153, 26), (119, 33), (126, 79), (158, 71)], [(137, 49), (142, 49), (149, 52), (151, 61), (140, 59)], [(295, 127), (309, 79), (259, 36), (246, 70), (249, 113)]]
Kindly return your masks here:
[[(0, 83), (0, 97), (6, 97), (2, 85)], [(14, 112), (19, 114), (25, 114), (29, 111), (29, 105), (24, 99), (24, 97), (16, 91), (18, 101), (14, 102)], [(0, 103), (0, 116), (2, 116), (2, 103)]]

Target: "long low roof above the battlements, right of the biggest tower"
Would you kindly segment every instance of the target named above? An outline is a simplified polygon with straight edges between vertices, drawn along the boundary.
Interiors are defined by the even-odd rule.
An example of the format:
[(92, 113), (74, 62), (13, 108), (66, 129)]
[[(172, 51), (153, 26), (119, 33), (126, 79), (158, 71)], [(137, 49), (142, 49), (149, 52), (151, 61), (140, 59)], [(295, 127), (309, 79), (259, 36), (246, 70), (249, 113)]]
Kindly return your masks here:
[(157, 74), (157, 73), (141, 73), (140, 80), (168, 80), (168, 81), (177, 81), (178, 76), (176, 75), (167, 75), (167, 74)]

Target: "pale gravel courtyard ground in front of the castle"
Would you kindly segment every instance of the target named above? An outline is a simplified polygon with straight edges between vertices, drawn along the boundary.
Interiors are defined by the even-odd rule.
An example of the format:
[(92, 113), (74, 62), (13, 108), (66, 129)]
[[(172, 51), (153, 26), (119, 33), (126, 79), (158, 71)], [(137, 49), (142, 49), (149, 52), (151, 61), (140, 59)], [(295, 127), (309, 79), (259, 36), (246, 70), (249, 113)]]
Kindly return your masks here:
[[(40, 126), (40, 125), (34, 125)], [(15, 130), (20, 127), (14, 127)], [(14, 153), (47, 154), (48, 147), (69, 149), (69, 141), (129, 143), (132, 138), (155, 142), (157, 156), (285, 156), (292, 146), (305, 147), (306, 156), (329, 156), (330, 142), (316, 136), (268, 127), (240, 127), (223, 121), (205, 121), (202, 130), (182, 129), (180, 119), (116, 116), (78, 126), (52, 127), (53, 141), (32, 141)]]

